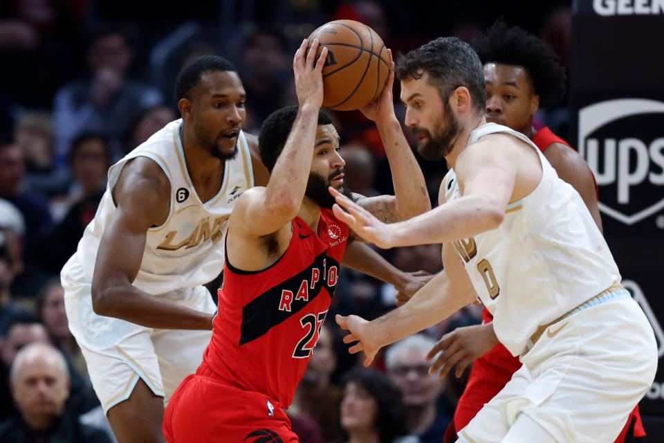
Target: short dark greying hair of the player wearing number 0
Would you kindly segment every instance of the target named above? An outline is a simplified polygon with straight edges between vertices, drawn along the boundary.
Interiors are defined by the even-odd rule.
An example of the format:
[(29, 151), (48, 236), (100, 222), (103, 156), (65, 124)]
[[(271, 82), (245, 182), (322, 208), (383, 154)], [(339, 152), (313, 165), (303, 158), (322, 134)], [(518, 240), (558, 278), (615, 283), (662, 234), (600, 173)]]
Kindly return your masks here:
[(439, 37), (401, 55), (396, 62), (399, 80), (417, 80), (422, 71), (429, 74), (430, 83), (438, 87), (443, 100), (463, 86), (470, 92), (474, 109), (484, 113), (486, 85), (482, 64), (469, 44), (457, 37)]

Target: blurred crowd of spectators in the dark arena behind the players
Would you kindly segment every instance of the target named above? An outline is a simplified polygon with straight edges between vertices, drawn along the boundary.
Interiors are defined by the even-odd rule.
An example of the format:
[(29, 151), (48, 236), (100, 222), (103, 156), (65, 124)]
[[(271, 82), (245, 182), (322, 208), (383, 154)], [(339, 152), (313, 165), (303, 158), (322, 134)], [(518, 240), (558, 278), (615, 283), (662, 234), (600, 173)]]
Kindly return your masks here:
[[(243, 129), (257, 134), (270, 112), (296, 103), (295, 46), (324, 22), (363, 21), (398, 54), (439, 35), (472, 41), (500, 12), (477, 12), (489, 4), (479, 0), (428, 11), (418, 2), (219, 1), (196, 14), (170, 11), (163, 21), (146, 21), (118, 17), (129, 6), (108, 3), (0, 2), (0, 440), (21, 427), (61, 435), (58, 441), (113, 440), (68, 330), (58, 274), (95, 215), (109, 166), (179, 117), (172, 87), (192, 57), (222, 55), (238, 67), (248, 96)], [(541, 35), (566, 62), (569, 6), (547, 5), (531, 16), (515, 10), (512, 21)], [(431, 18), (436, 14), (440, 21)], [(404, 111), (397, 107), (402, 121)], [(333, 119), (348, 188), (392, 193), (374, 125), (358, 111)], [(564, 107), (537, 120), (566, 136)], [(445, 163), (421, 167), (434, 201)], [(380, 252), (404, 271), (442, 267), (440, 246)], [(375, 318), (394, 308), (395, 296), (391, 285), (344, 269), (329, 318)], [(441, 442), (463, 377), (430, 375), (425, 356), (442, 334), (479, 321), (477, 307), (467, 307), (392, 345), (370, 370), (328, 322), (288, 410), (294, 430), (302, 442)]]

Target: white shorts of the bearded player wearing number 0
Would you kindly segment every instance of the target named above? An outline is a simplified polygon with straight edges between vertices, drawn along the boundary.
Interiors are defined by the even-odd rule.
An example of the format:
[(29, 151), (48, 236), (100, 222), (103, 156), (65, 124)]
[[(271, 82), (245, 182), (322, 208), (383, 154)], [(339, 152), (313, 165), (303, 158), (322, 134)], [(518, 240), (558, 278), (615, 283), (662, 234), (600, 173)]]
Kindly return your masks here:
[(459, 441), (614, 442), (651, 386), (658, 357), (638, 304), (625, 289), (609, 294), (548, 327)]

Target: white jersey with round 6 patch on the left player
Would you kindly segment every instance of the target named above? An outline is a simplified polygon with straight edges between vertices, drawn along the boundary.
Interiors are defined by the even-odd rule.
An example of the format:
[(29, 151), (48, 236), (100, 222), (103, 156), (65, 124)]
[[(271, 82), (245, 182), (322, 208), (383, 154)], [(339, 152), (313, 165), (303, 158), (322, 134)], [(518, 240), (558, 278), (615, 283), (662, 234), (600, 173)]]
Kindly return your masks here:
[(86, 227), (76, 253), (65, 264), (63, 275), (92, 281), (100, 239), (116, 212), (111, 190), (124, 164), (138, 156), (160, 166), (171, 183), (171, 192), (167, 220), (147, 231), (145, 251), (133, 285), (158, 295), (208, 283), (221, 273), (228, 217), (237, 198), (254, 185), (248, 143), (240, 132), (237, 156), (225, 161), (219, 193), (203, 203), (187, 172), (181, 124), (182, 120), (169, 123), (111, 166), (108, 187), (95, 218)]

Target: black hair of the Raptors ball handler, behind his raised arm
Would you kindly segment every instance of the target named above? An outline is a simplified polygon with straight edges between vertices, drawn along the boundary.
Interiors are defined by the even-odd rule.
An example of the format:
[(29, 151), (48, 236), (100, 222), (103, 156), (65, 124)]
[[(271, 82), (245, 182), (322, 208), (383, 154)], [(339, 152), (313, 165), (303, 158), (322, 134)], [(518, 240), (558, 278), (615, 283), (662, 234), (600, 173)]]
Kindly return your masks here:
[[(270, 172), (275, 168), (279, 154), (284, 150), (288, 135), (291, 134), (297, 117), (297, 109), (297, 106), (277, 109), (261, 125), (261, 131), (258, 134), (258, 152), (261, 161)], [(324, 111), (318, 111), (318, 125), (331, 124), (332, 118)]]

